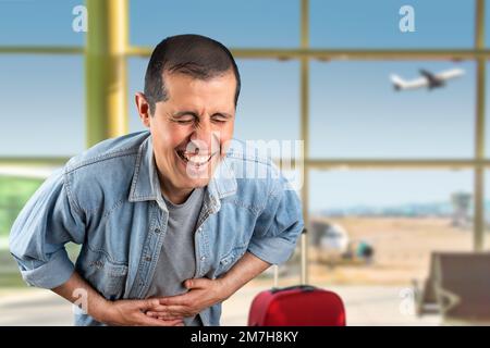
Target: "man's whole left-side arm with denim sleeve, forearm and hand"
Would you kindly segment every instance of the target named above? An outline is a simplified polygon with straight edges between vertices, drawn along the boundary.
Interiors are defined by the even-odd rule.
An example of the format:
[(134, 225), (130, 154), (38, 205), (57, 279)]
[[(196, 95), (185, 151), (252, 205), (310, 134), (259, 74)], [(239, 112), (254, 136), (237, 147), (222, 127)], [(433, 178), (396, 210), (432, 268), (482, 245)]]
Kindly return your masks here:
[(142, 310), (155, 301), (110, 302), (76, 272), (64, 245), (85, 240), (86, 216), (71, 196), (70, 178), (56, 172), (25, 204), (12, 226), (9, 247), (22, 277), (32, 286), (52, 289), (70, 302), (81, 304), (94, 319), (120, 325), (174, 324), (148, 320)]

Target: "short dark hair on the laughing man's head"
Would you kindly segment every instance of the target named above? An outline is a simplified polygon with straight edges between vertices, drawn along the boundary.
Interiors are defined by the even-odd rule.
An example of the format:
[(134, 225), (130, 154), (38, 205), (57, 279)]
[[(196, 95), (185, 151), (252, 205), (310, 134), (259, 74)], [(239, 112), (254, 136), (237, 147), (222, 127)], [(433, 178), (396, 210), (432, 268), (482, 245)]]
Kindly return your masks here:
[(145, 96), (150, 114), (158, 101), (168, 100), (163, 73), (181, 73), (198, 79), (209, 79), (232, 70), (236, 79), (235, 107), (238, 102), (241, 79), (233, 55), (224, 45), (201, 35), (176, 35), (157, 45), (145, 75)]

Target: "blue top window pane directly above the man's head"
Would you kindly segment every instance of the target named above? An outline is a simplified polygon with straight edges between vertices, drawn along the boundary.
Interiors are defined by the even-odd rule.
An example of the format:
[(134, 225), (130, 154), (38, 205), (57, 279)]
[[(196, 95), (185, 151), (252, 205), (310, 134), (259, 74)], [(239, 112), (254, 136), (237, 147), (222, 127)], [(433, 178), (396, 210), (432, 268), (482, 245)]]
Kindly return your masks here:
[(130, 2), (133, 45), (155, 46), (185, 33), (209, 36), (231, 47), (294, 47), (299, 42), (296, 0)]

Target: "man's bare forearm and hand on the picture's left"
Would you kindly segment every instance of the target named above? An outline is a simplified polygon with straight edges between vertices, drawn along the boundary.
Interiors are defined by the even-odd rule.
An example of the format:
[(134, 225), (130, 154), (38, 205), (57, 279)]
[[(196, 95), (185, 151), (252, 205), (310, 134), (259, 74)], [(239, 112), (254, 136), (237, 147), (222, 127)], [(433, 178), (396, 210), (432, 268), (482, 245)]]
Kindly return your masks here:
[(106, 300), (78, 273), (74, 272), (63, 285), (52, 289), (53, 293), (82, 308), (96, 321), (109, 325), (182, 325), (182, 318), (157, 320), (144, 312), (159, 304), (156, 299), (146, 300)]

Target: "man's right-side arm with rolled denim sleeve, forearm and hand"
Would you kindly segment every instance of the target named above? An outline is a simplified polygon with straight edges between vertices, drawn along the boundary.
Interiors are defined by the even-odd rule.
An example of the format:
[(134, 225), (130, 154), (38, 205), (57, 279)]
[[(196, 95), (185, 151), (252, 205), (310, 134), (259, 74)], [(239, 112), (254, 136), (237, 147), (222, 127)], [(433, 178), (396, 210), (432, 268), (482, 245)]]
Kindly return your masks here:
[(271, 264), (285, 262), (293, 253), (303, 229), (303, 216), (297, 194), (284, 177), (274, 181), (267, 204), (257, 219), (247, 252), (220, 278), (187, 279), (191, 291), (160, 299), (161, 313), (192, 316), (203, 309), (222, 302)]

